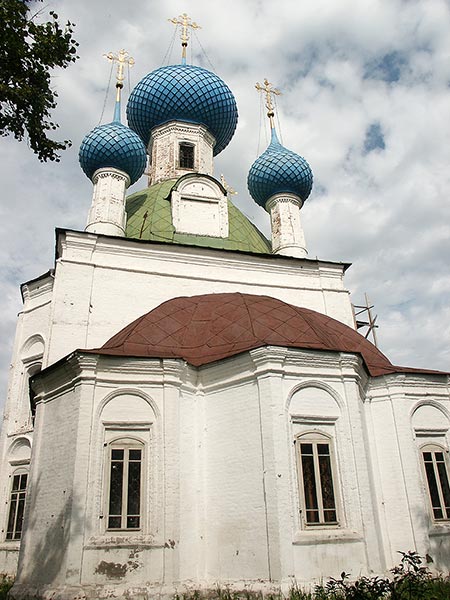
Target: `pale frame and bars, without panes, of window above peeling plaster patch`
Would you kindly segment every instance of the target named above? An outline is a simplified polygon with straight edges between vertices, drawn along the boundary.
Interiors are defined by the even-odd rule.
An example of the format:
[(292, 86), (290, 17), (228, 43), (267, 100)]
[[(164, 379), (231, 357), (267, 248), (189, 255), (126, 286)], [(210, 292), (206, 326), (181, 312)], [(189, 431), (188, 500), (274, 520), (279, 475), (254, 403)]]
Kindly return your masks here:
[[(139, 439), (130, 436), (121, 436), (114, 438), (109, 442), (105, 442), (105, 476), (104, 476), (104, 517), (105, 517), (105, 531), (109, 533), (133, 533), (133, 532), (144, 532), (146, 523), (146, 507), (144, 504), (145, 490), (146, 490), (146, 479), (147, 479), (147, 444)], [(110, 514), (111, 508), (111, 472), (112, 472), (112, 452), (113, 450), (124, 450), (127, 455), (127, 460), (123, 461), (122, 471), (122, 495), (121, 495), (121, 513), (120, 515)], [(130, 450), (140, 450), (140, 485), (139, 485), (139, 514), (128, 515), (128, 474), (130, 462)], [(139, 527), (127, 527), (127, 519), (138, 516)], [(120, 517), (120, 527), (110, 527), (110, 518)], [(125, 526), (124, 526), (125, 525)]]

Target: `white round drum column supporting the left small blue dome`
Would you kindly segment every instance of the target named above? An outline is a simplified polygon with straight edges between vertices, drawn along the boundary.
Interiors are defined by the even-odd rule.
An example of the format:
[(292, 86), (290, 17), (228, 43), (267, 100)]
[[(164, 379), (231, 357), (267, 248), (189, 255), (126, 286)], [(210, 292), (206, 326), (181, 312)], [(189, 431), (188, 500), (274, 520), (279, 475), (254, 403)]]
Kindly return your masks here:
[(104, 235), (125, 235), (125, 192), (130, 178), (124, 171), (105, 168), (95, 171), (94, 193), (86, 231)]

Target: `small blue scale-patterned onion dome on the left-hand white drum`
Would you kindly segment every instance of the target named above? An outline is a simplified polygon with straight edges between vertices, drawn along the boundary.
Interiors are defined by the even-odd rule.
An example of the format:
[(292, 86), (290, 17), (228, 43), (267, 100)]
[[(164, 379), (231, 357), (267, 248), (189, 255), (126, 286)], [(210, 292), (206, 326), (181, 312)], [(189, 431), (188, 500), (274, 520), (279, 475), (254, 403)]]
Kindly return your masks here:
[(110, 167), (124, 171), (132, 184), (139, 179), (147, 164), (141, 139), (119, 121), (100, 125), (88, 133), (81, 142), (78, 158), (89, 179), (97, 169)]

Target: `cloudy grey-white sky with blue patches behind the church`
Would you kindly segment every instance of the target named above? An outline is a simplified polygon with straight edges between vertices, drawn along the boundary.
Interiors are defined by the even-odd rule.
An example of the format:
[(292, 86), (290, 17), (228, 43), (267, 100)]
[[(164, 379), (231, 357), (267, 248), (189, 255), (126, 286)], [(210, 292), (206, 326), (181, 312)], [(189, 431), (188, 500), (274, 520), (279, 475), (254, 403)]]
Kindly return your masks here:
[[(39, 7), (41, 5), (38, 5)], [(0, 394), (6, 391), (19, 284), (53, 266), (54, 229), (83, 229), (92, 186), (78, 166), (84, 135), (112, 118), (105, 96), (120, 48), (135, 58), (131, 87), (179, 61), (167, 19), (188, 12), (202, 29), (189, 62), (234, 92), (239, 125), (216, 160), (235, 203), (266, 235), (247, 172), (267, 143), (257, 81), (278, 98), (285, 146), (310, 163), (302, 210), (309, 255), (353, 263), (355, 304), (367, 292), (380, 349), (395, 364), (450, 370), (450, 6), (448, 0), (49, 0), (76, 24), (79, 60), (54, 73), (59, 139), (73, 147), (41, 164), (26, 143), (0, 140), (2, 235)], [(44, 12), (45, 12), (44, 11)], [(128, 84), (125, 85), (128, 92)], [(265, 119), (263, 119), (265, 121)], [(265, 125), (265, 123), (264, 123)], [(134, 189), (145, 186), (142, 179)]]

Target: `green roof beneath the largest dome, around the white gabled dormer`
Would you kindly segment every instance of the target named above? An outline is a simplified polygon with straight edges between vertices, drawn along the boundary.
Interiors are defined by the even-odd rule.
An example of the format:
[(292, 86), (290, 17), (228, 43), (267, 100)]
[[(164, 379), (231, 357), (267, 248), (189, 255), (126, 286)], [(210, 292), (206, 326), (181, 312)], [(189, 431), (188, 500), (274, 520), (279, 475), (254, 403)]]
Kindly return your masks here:
[(127, 238), (206, 246), (221, 250), (263, 254), (272, 252), (270, 242), (230, 200), (227, 238), (177, 233), (172, 225), (170, 206), (170, 193), (177, 181), (178, 179), (169, 179), (156, 183), (127, 198)]

